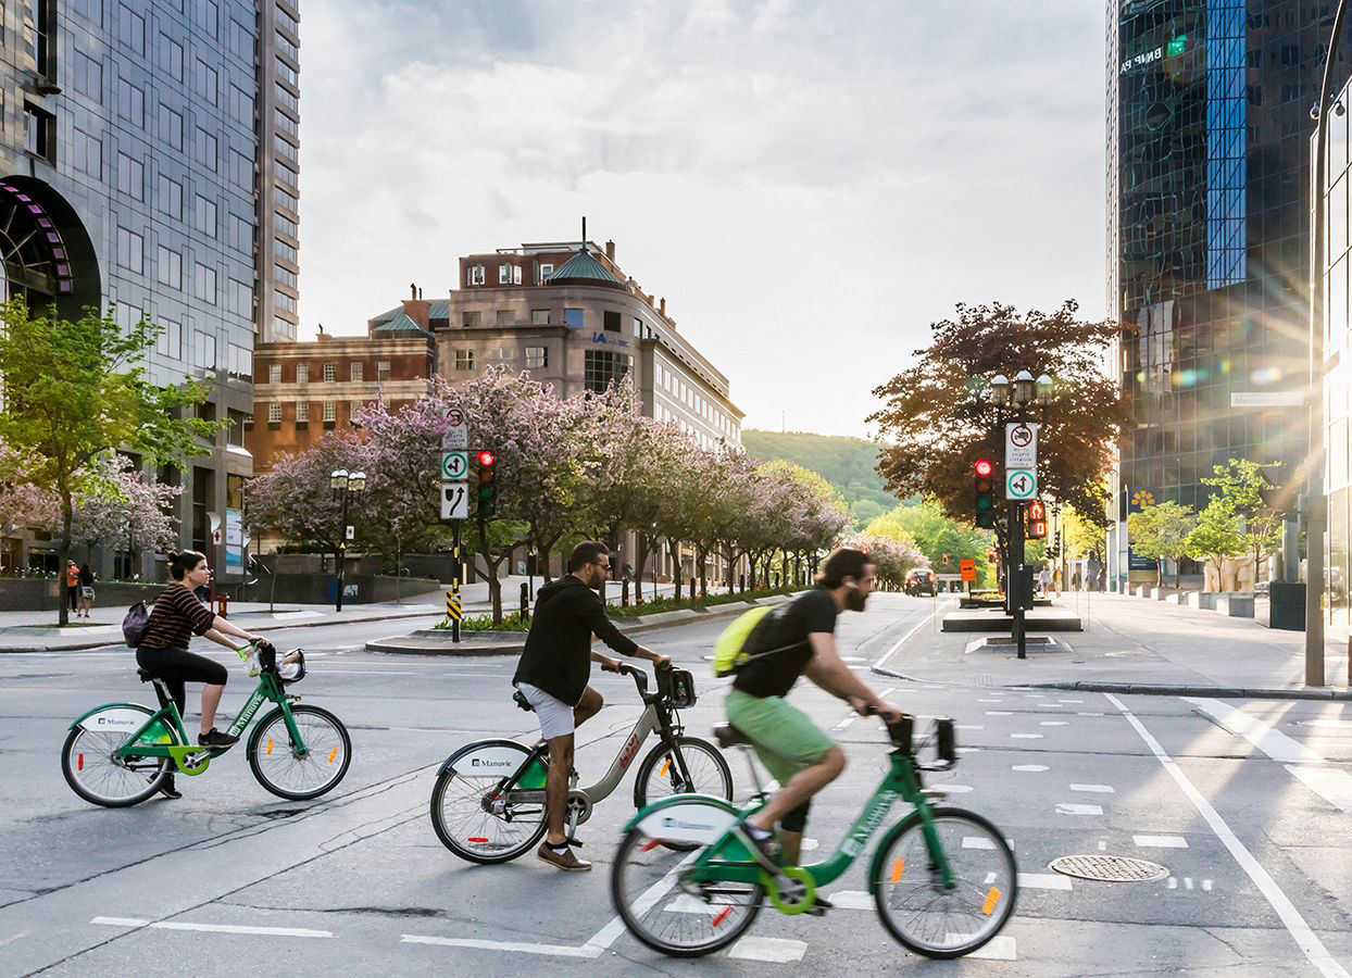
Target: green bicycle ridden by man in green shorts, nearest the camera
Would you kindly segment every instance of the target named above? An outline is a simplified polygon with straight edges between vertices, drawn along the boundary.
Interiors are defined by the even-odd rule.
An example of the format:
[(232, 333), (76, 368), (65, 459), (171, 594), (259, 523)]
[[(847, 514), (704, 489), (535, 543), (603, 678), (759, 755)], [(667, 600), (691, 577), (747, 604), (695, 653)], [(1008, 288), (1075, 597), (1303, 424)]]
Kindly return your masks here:
[[(1014, 912), (1018, 870), (1005, 835), (986, 818), (930, 798), (922, 771), (957, 763), (953, 721), (934, 725), (937, 760), (921, 764), (910, 716), (888, 725), (891, 763), (845, 840), (811, 866), (787, 866), (772, 877), (731, 828), (764, 804), (738, 810), (721, 798), (664, 798), (635, 814), (611, 867), (611, 898), (625, 927), (654, 951), (696, 958), (737, 940), (768, 897), (776, 910), (810, 910), (822, 886), (840, 879), (900, 799), (914, 806), (883, 836), (868, 868), (868, 887), (888, 932), (927, 958), (971, 954), (999, 933)], [(735, 728), (714, 730), (725, 748), (746, 747)], [(752, 775), (756, 768), (752, 764)], [(688, 851), (691, 844), (700, 848)], [(821, 908), (818, 908), (818, 912)]]

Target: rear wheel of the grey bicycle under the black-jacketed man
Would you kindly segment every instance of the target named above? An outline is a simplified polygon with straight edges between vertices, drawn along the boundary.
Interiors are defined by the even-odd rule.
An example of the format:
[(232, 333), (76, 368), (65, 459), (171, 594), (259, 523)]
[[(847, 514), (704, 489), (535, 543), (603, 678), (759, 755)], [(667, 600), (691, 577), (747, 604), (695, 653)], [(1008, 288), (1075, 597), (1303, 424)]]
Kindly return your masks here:
[[(529, 753), (515, 740), (484, 740), (450, 755), (431, 790), (431, 826), (442, 845), (470, 863), (506, 863), (541, 840), (544, 798), (493, 805), (502, 783)], [(483, 763), (473, 764), (476, 759)], [(457, 760), (466, 763), (457, 768)]]

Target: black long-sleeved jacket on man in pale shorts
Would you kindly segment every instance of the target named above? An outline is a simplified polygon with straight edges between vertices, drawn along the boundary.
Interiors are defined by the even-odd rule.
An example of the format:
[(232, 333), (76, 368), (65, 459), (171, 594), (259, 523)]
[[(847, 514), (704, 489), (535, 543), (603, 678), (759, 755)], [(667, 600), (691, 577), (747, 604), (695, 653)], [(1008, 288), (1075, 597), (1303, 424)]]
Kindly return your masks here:
[(549, 582), (535, 598), (535, 615), (512, 683), (530, 683), (576, 706), (591, 678), (594, 632), (621, 655), (638, 651), (606, 617), (600, 595), (587, 584), (571, 574)]

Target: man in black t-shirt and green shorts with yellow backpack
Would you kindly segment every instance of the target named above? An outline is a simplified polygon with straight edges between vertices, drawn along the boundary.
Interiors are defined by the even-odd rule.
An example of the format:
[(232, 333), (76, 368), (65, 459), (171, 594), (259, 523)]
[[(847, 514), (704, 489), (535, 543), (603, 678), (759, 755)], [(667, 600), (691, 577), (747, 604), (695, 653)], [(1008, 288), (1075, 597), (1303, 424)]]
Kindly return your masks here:
[[(798, 864), (808, 804), (845, 770), (845, 752), (784, 699), (798, 678), (806, 675), (860, 716), (872, 707), (887, 722), (900, 720), (902, 712), (860, 682), (836, 649), (836, 617), (846, 609), (864, 610), (877, 583), (876, 571), (863, 551), (833, 551), (817, 575), (817, 587), (757, 624), (746, 640), (749, 659), (727, 694), (729, 722), (752, 741), (765, 770), (780, 783), (765, 806), (734, 829), (772, 874)], [(821, 897), (817, 905), (829, 906)]]

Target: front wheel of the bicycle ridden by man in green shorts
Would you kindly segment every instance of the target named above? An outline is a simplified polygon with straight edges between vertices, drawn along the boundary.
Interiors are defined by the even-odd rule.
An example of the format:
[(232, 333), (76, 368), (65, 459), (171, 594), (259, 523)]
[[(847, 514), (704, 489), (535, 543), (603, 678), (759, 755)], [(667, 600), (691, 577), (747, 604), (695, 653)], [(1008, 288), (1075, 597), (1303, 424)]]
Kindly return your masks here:
[(883, 924), (909, 950), (960, 958), (999, 933), (1014, 913), (1018, 867), (1005, 835), (986, 818), (959, 808), (930, 813), (953, 886), (944, 886), (919, 812), (911, 812), (873, 856), (873, 902)]

